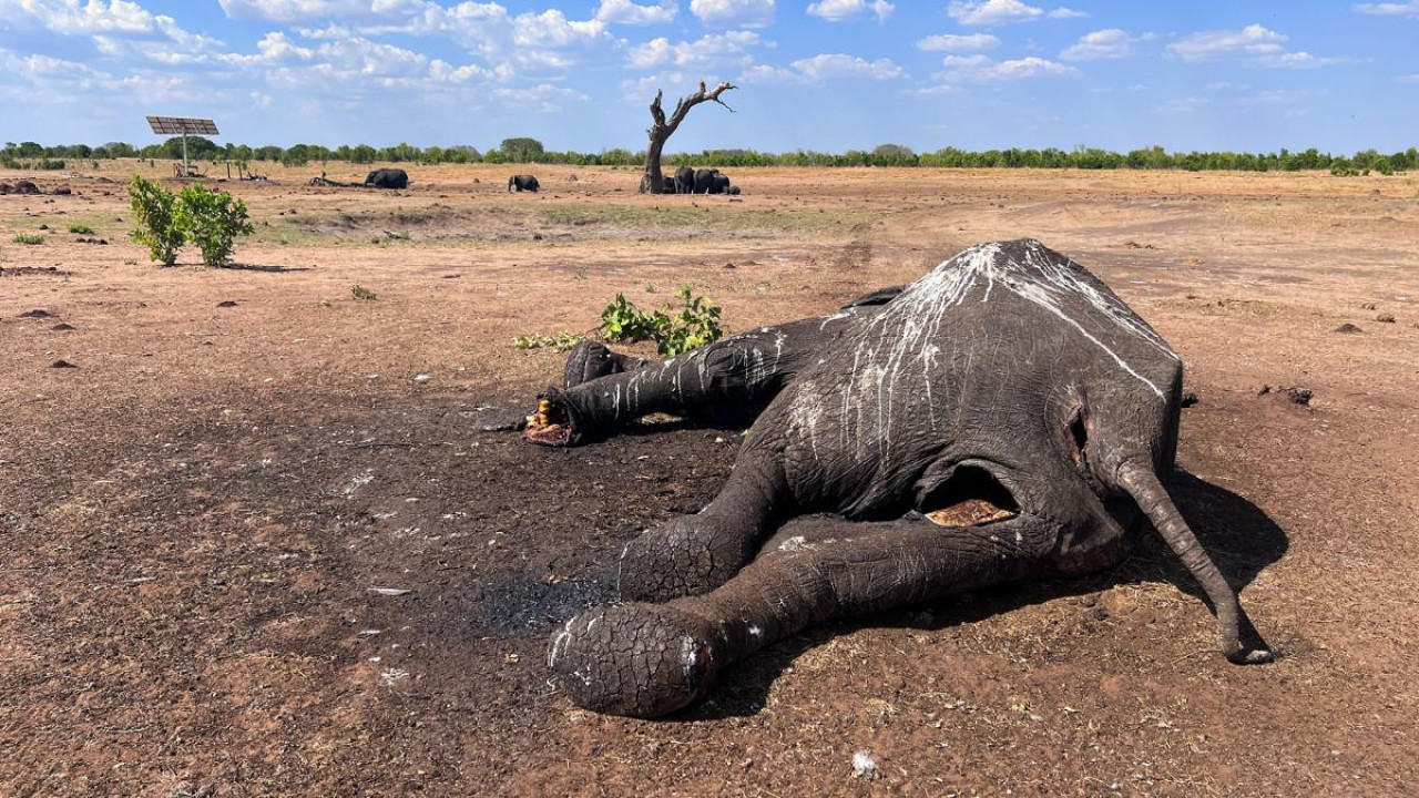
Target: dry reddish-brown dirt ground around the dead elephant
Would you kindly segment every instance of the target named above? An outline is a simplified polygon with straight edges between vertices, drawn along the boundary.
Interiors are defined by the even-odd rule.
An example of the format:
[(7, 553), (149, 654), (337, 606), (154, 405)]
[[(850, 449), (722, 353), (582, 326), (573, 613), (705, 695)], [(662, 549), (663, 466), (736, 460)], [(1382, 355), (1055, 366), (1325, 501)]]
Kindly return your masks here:
[[(167, 169), (0, 196), (0, 795), (1419, 794), (1416, 176), (745, 169), (729, 199), (277, 169), (226, 183), (257, 236), (214, 270), (125, 240), (135, 168)], [(573, 709), (552, 625), (715, 493), (738, 430), (477, 433), (559, 373), (512, 337), (684, 283), (736, 331), (1022, 236), (1183, 355), (1178, 498), (1279, 660), (1225, 663), (1144, 535), (1091, 578), (826, 625), (670, 720)]]

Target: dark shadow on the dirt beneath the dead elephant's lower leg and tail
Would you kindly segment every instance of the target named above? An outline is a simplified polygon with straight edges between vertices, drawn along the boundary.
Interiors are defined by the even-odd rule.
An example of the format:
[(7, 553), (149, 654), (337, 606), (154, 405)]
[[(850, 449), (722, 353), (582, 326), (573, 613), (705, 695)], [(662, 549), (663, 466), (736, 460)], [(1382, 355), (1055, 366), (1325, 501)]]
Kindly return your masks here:
[[(1256, 504), (1206, 480), (1178, 469), (1169, 493), (1218, 568), (1239, 591), (1280, 561), (1288, 548), (1286, 532)], [(1147, 523), (1131, 534), (1131, 552), (1115, 567), (1061, 581), (1027, 582), (949, 596), (924, 605), (895, 609), (873, 618), (830, 622), (782, 640), (736, 663), (724, 673), (705, 701), (671, 720), (712, 720), (758, 714), (769, 687), (799, 656), (833, 638), (866, 628), (911, 628), (935, 630), (1049, 601), (1081, 596), (1117, 585), (1168, 582), (1210, 609), (1202, 588)], [(1244, 601), (1244, 596), (1243, 596)], [(1254, 628), (1243, 629), (1250, 642), (1260, 642)], [(1219, 655), (1220, 656), (1220, 655)]]

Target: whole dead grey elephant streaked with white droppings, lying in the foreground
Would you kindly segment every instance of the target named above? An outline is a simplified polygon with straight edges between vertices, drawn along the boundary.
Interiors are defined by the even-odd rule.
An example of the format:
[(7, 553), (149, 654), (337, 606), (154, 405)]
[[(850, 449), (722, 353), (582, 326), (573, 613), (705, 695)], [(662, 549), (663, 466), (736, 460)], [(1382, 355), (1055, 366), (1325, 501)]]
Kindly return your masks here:
[[(1208, 594), (1226, 657), (1270, 660), (1164, 487), (1182, 364), (1078, 264), (982, 244), (887, 304), (724, 344), (664, 364), (583, 352), (568, 382), (603, 376), (551, 396), (583, 430), (758, 415), (719, 496), (626, 547), (627, 603), (553, 636), (578, 704), (666, 714), (827, 618), (1108, 567), (1139, 510)], [(951, 515), (982, 503), (995, 513)]]

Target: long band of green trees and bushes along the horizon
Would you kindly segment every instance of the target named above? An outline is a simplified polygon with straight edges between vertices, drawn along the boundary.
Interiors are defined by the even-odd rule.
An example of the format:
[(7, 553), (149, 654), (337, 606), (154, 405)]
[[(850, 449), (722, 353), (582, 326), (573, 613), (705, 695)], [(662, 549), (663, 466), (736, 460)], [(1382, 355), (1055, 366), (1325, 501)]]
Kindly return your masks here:
[[(275, 145), (219, 145), (201, 136), (187, 136), (187, 155), (192, 160), (233, 162), (250, 165), (281, 163), (285, 166), (307, 166), (309, 163), (563, 163), (572, 166), (640, 166), (646, 153), (629, 149), (602, 152), (556, 152), (548, 151), (534, 138), (504, 139), (497, 148), (480, 151), (475, 146), (429, 146), (409, 143), (375, 148), (369, 145), (324, 145), (298, 143), (288, 148)], [(35, 142), (6, 142), (0, 151), (0, 165), (20, 168), (21, 159), (31, 168), (64, 169), (67, 160), (106, 160), (115, 158), (180, 159), (182, 139), (170, 138), (160, 143), (136, 148), (125, 142), (111, 142), (101, 146), (58, 145), (41, 146)], [(1392, 175), (1419, 168), (1419, 149), (1382, 153), (1365, 149), (1354, 155), (1332, 155), (1310, 148), (1303, 152), (1281, 149), (1280, 152), (1168, 152), (1162, 146), (1151, 146), (1130, 152), (1114, 152), (1100, 148), (1078, 146), (1070, 151), (1046, 149), (988, 149), (965, 151), (954, 146), (935, 152), (917, 153), (905, 145), (884, 143), (871, 151), (847, 151), (843, 153), (795, 151), (785, 153), (758, 152), (753, 149), (710, 149), (698, 153), (668, 153), (667, 165), (712, 165), (736, 166), (935, 166), (969, 169), (1181, 169), (1188, 172), (1303, 172), (1330, 170), (1334, 175), (1368, 175), (1378, 172)]]

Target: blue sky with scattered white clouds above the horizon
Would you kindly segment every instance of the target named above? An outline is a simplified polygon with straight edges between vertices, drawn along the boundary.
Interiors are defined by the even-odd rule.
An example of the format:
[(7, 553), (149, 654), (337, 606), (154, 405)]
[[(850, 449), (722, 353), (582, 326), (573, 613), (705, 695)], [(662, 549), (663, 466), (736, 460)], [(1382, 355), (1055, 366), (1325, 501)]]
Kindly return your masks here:
[(1419, 145), (1419, 0), (0, 0), (0, 139), (674, 151)]

